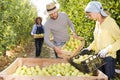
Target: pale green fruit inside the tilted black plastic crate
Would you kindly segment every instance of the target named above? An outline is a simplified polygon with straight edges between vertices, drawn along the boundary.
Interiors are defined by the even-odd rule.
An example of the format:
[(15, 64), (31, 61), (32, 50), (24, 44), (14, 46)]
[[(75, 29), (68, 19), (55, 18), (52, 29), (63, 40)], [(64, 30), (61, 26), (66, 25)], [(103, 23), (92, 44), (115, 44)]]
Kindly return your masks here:
[[(89, 57), (91, 57), (93, 55), (77, 55), (76, 57), (73, 57), (73, 62), (77, 63), (77, 64), (81, 64), (82, 61), (86, 61), (86, 63), (89, 62), (89, 60), (87, 60)], [(96, 58), (96, 56), (94, 56), (94, 58)], [(91, 58), (92, 60), (92, 58)]]

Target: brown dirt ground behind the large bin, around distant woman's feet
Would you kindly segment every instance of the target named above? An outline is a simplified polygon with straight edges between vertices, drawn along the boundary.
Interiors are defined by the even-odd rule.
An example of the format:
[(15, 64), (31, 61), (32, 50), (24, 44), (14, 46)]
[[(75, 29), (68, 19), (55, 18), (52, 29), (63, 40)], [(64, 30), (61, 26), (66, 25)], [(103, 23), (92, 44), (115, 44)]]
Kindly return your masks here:
[[(7, 56), (0, 56), (0, 71), (7, 68), (16, 58), (36, 58), (34, 42), (26, 46), (24, 50), (18, 47), (14, 51), (7, 51), (6, 54)], [(46, 44), (43, 44), (41, 55), (38, 58), (55, 58), (54, 51)]]

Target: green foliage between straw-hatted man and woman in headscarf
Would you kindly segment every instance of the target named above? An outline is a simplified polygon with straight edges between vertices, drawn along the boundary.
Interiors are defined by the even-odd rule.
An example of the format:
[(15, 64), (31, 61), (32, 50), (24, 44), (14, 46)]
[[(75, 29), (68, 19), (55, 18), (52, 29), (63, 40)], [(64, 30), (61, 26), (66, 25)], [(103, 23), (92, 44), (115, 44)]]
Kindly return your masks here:
[(60, 10), (68, 14), (75, 26), (75, 30), (79, 36), (86, 39), (86, 44), (93, 40), (94, 22), (87, 19), (84, 8), (90, 0), (58, 0)]

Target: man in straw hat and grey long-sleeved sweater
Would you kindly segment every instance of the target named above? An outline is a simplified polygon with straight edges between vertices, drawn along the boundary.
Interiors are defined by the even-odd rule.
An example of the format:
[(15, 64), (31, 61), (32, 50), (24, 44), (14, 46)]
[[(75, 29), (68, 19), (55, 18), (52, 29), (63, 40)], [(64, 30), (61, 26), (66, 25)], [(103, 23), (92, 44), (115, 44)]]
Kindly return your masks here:
[[(54, 49), (56, 58), (59, 58), (57, 54), (62, 54), (59, 47), (69, 40), (68, 26), (70, 26), (74, 35), (76, 35), (75, 29), (67, 14), (65, 12), (58, 12), (59, 8), (55, 3), (47, 4), (46, 9), (50, 18), (44, 25), (44, 40), (46, 44)], [(53, 43), (50, 41), (50, 34), (53, 36)]]

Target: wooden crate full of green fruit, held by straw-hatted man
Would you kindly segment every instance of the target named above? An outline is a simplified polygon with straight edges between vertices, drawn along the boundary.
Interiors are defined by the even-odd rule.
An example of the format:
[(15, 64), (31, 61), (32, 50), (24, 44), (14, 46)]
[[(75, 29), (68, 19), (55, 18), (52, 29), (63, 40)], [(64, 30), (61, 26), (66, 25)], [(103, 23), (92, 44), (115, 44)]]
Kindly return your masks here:
[(84, 46), (84, 38), (77, 36), (70, 36), (69, 41), (67, 41), (63, 47), (61, 47), (61, 51), (63, 55), (59, 55), (60, 57), (72, 57), (76, 55)]

